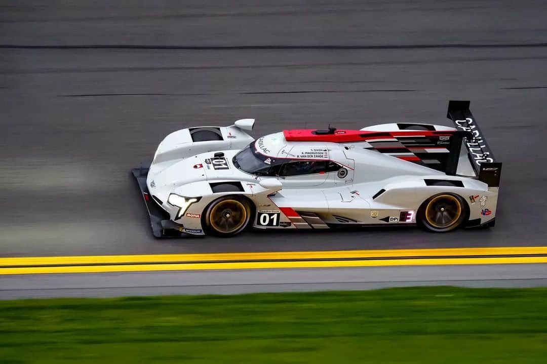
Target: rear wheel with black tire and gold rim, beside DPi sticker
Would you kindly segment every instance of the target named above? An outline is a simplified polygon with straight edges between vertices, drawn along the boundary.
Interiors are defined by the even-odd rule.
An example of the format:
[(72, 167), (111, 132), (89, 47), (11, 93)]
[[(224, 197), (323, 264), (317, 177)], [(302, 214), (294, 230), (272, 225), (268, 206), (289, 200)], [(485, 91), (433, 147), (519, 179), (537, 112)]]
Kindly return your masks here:
[(432, 196), (418, 209), (418, 222), (433, 232), (449, 232), (467, 220), (468, 208), (464, 199), (454, 193)]

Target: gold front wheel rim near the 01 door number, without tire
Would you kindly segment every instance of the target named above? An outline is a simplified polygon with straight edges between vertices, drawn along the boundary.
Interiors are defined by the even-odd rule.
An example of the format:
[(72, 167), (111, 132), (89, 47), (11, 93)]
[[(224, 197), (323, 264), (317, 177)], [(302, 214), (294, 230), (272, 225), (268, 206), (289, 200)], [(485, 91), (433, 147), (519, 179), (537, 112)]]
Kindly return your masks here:
[(214, 230), (229, 234), (239, 230), (247, 220), (247, 209), (235, 199), (220, 201), (211, 209), (209, 221)]

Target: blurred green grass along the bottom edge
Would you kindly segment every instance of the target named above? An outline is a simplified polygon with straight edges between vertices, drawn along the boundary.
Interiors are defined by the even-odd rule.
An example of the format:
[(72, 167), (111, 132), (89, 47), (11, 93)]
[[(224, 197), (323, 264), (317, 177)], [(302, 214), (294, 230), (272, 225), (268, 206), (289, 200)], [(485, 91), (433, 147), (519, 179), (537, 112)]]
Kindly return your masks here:
[(546, 363), (547, 289), (0, 301), (7, 363)]

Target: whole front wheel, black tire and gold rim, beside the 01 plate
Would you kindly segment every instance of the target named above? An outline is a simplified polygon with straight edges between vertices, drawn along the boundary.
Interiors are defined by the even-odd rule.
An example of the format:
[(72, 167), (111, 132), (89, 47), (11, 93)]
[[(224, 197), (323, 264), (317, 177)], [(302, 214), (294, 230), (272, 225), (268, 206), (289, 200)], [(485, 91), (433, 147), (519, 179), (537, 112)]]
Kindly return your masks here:
[(202, 225), (207, 233), (219, 237), (234, 236), (247, 228), (252, 211), (251, 203), (245, 197), (220, 197), (207, 206)]

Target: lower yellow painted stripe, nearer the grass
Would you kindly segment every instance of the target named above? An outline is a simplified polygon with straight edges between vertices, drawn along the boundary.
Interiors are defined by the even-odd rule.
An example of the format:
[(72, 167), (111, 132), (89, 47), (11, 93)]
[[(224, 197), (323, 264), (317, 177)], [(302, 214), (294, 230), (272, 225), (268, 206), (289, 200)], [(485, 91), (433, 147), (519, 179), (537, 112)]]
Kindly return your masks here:
[(430, 266), (430, 265), (473, 265), (473, 264), (522, 264), (547, 263), (546, 256), (539, 257), (478, 257), (478, 258), (424, 258), (393, 260), (342, 260), (342, 261), (269, 261), (235, 263), (186, 263), (186, 264), (144, 264), (119, 266), (61, 266), (61, 267), (10, 267), (0, 268), (4, 274), (46, 274), (46, 273), (107, 273), (107, 272), (154, 272), (194, 271), (203, 269), (272, 269), (272, 268), (325, 268), (325, 267), (379, 267), (379, 266)]

